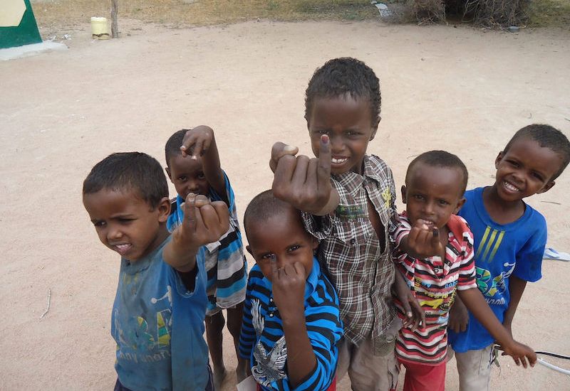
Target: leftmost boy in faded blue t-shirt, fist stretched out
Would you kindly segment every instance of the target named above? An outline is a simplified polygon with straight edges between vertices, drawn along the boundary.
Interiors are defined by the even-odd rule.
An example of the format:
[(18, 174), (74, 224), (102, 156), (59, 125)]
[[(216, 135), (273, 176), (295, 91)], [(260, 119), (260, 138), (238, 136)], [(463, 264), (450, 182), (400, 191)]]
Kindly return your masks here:
[(83, 205), (100, 241), (121, 256), (111, 316), (115, 390), (213, 390), (201, 247), (226, 232), (227, 206), (189, 194), (187, 218), (170, 235), (165, 175), (139, 152), (96, 164), (83, 182)]

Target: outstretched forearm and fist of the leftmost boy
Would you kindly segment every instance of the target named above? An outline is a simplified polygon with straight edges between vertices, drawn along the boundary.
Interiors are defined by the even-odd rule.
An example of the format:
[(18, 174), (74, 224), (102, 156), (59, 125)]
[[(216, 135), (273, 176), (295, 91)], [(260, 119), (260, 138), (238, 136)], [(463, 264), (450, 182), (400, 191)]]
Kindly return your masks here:
[(215, 242), (229, 228), (229, 212), (222, 201), (210, 202), (204, 195), (190, 193), (184, 204), (184, 221), (172, 232), (162, 257), (180, 272), (196, 266), (196, 254), (202, 245)]

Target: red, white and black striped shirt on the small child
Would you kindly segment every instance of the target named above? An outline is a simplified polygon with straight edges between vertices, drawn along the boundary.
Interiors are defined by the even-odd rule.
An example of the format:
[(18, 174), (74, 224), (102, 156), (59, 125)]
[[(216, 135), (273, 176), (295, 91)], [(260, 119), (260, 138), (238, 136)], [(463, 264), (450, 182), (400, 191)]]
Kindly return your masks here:
[[(430, 257), (417, 259), (401, 252), (400, 242), (410, 233), (410, 221), (405, 212), (393, 232), (394, 259), (408, 280), (408, 286), (425, 311), (425, 326), (411, 331), (402, 328), (396, 341), (396, 355), (403, 361), (437, 364), (447, 352), (447, 321), (457, 289), (477, 288), (473, 259), (473, 234), (467, 222), (451, 215), (447, 222), (449, 242), (445, 259)], [(403, 309), (395, 300), (398, 316), (404, 318)]]

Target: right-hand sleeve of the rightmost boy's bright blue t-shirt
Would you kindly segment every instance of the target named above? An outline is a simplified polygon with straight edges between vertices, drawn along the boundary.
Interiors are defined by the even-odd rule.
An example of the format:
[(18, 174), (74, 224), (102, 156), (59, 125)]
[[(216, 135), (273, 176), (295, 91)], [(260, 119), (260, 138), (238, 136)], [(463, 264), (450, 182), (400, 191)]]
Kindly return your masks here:
[(529, 240), (517, 252), (517, 263), (513, 274), (519, 279), (528, 282), (536, 282), (542, 277), (542, 257), (546, 247), (546, 220), (540, 215), (541, 221), (537, 222), (537, 229)]

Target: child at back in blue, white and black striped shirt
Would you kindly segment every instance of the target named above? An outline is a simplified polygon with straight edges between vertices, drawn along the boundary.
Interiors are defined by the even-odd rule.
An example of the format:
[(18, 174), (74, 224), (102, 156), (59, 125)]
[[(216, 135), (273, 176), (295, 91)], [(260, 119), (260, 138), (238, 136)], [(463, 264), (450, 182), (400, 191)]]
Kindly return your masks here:
[(208, 307), (206, 338), (214, 365), (214, 387), (222, 386), (226, 369), (222, 355), (222, 330), (227, 309), (227, 328), (234, 338), (237, 355), (237, 380), (245, 377), (245, 363), (239, 357), (239, 329), (247, 284), (247, 264), (242, 245), (242, 234), (235, 205), (234, 191), (220, 167), (214, 131), (206, 126), (182, 129), (170, 136), (165, 146), (166, 172), (178, 193), (168, 218), (168, 229), (173, 230), (184, 220), (182, 204), (189, 193), (221, 200), (227, 204), (229, 230), (216, 242), (206, 245), (206, 285)]

